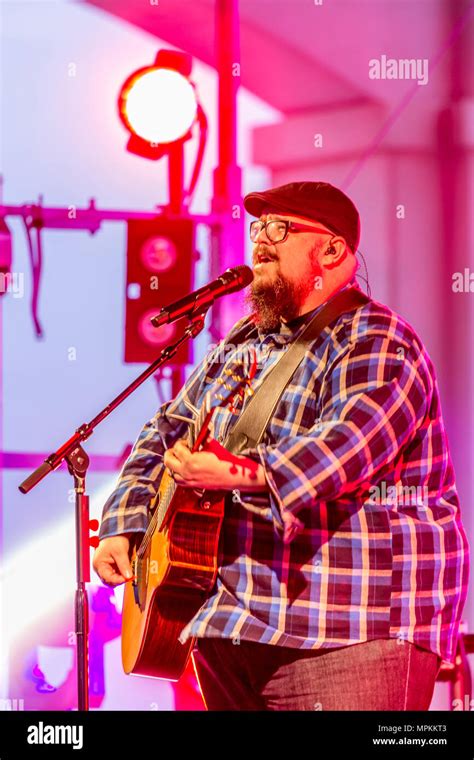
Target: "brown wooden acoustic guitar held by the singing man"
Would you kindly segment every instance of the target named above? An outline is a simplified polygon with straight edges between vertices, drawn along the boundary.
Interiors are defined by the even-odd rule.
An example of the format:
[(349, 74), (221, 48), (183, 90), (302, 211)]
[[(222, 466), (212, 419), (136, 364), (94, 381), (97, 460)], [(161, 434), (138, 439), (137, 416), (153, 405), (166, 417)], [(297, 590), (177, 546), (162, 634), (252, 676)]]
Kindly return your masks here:
[[(212, 433), (219, 406), (239, 414), (237, 397), (252, 394), (248, 377), (226, 369), (217, 382), (228, 393), (208, 391), (188, 432), (188, 445), (199, 451)], [(243, 367), (238, 362), (236, 368)], [(242, 404), (240, 404), (242, 408)], [(177, 681), (186, 668), (195, 639), (181, 644), (178, 636), (214, 586), (217, 550), (224, 518), (224, 491), (203, 491), (177, 485), (165, 468), (149, 524), (132, 550), (134, 580), (125, 584), (122, 611), (122, 664), (125, 673)], [(142, 534), (139, 534), (142, 535)]]

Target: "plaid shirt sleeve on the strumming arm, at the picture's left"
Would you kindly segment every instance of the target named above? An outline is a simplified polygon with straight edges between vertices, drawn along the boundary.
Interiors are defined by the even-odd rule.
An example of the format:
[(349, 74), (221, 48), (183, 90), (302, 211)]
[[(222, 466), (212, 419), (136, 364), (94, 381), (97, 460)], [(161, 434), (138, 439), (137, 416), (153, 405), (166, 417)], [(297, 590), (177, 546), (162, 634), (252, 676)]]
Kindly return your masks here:
[[(104, 504), (99, 539), (122, 533), (145, 532), (148, 509), (155, 498), (164, 468), (166, 449), (187, 435), (189, 423), (196, 416), (193, 407), (199, 403), (203, 381), (212, 362), (220, 356), (225, 342), (242, 326), (239, 320), (228, 336), (213, 348), (193, 370), (177, 396), (163, 404), (140, 431), (125, 462), (116, 486)], [(176, 416), (175, 416), (176, 415)]]

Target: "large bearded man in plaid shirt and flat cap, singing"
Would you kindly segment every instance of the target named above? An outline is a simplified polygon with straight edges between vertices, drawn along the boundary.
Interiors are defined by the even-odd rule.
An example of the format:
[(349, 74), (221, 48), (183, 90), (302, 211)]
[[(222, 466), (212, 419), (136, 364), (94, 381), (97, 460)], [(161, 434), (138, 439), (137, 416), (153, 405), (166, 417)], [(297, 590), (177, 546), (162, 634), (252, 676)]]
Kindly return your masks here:
[(104, 507), (94, 568), (108, 585), (130, 577), (129, 538), (145, 530), (165, 466), (182, 486), (228, 491), (217, 582), (180, 636), (197, 637), (207, 708), (427, 710), (441, 661), (453, 661), (468, 547), (414, 330), (375, 301), (334, 320), (262, 442), (232, 457), (242, 467), (221, 445), (229, 409), (207, 450), (183, 441), (182, 418), (225, 368), (250, 364), (253, 349), (257, 390), (308, 320), (357, 287), (359, 215), (340, 190), (291, 183), (244, 205), (256, 217), (251, 313), (144, 426)]

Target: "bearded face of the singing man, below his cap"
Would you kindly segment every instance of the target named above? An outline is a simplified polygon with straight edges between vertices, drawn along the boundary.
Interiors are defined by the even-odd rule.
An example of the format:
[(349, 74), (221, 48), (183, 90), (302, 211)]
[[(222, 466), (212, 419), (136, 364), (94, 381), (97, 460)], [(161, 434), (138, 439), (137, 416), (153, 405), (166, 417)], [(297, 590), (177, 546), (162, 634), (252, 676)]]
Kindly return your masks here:
[(247, 295), (257, 323), (264, 329), (276, 328), (280, 317), (294, 319), (300, 307), (315, 288), (316, 277), (322, 276), (317, 257), (333, 237), (330, 230), (304, 217), (268, 213), (262, 222), (287, 220), (314, 227), (315, 231), (292, 231), (283, 242), (273, 243), (266, 230), (261, 230), (252, 250), (254, 279)]

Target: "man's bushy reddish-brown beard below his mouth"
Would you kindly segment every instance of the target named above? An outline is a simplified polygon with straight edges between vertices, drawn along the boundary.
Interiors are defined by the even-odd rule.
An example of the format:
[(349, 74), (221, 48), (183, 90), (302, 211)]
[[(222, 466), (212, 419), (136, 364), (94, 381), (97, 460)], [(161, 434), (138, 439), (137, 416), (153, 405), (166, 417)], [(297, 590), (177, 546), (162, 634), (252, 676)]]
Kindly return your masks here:
[[(263, 253), (264, 250), (261, 250)], [(254, 323), (262, 330), (278, 330), (281, 319), (290, 322), (299, 316), (301, 307), (314, 289), (314, 277), (320, 273), (311, 251), (313, 273), (301, 282), (284, 277), (279, 270), (272, 276), (257, 276), (245, 295), (245, 304)]]

